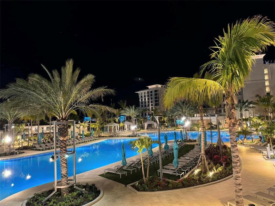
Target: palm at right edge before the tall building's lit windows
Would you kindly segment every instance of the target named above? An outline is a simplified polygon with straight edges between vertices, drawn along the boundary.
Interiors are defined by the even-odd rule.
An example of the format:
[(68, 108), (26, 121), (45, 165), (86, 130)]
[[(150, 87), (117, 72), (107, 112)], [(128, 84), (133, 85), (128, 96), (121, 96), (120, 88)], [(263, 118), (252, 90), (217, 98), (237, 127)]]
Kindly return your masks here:
[[(270, 116), (272, 119), (272, 114), (275, 112), (275, 100), (272, 95), (264, 95), (260, 96), (259, 94), (256, 95), (256, 104), (263, 107), (264, 113), (268, 114), (268, 120), (270, 120)], [(266, 115), (264, 115), (264, 119), (266, 120)]]

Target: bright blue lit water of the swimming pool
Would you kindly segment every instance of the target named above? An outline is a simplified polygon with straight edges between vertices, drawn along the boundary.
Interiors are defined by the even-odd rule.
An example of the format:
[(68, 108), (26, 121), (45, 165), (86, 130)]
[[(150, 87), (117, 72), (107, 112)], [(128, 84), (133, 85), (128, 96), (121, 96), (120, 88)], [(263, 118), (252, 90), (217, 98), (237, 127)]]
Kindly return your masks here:
[[(180, 133), (177, 138), (180, 138)], [(143, 133), (158, 139), (156, 132)], [(161, 132), (161, 142), (164, 135), (168, 140), (174, 139), (174, 132)], [(197, 132), (190, 132), (191, 138), (197, 138)], [(221, 132), (224, 142), (229, 141), (227, 132)], [(248, 137), (249, 138), (249, 137)], [(83, 173), (103, 167), (121, 160), (121, 144), (125, 144), (126, 158), (137, 155), (128, 145), (133, 139), (110, 139), (76, 148), (76, 173)], [(210, 132), (207, 132), (210, 141)], [(213, 132), (213, 142), (217, 141), (217, 132)], [(154, 144), (153, 147), (158, 146)], [(54, 181), (54, 163), (50, 162), (53, 152), (24, 158), (0, 161), (0, 200), (19, 191)], [(57, 176), (60, 179), (60, 159), (57, 160)], [(72, 176), (72, 155), (68, 157), (68, 175)], [(103, 172), (103, 171), (102, 171)], [(92, 178), (92, 177), (91, 177)]]

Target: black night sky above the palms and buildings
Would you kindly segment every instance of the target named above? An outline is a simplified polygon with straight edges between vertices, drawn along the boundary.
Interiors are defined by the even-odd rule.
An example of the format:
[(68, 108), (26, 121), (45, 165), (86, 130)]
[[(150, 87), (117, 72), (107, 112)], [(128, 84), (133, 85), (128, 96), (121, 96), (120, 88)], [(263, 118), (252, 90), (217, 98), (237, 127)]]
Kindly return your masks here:
[[(1, 1), (1, 88), (31, 72), (46, 76), (72, 58), (80, 76), (138, 105), (135, 91), (191, 77), (228, 23), (261, 14), (275, 1)], [(266, 59), (275, 59), (269, 48)], [(138, 80), (141, 78), (141, 80)], [(106, 99), (105, 104), (110, 103)]]

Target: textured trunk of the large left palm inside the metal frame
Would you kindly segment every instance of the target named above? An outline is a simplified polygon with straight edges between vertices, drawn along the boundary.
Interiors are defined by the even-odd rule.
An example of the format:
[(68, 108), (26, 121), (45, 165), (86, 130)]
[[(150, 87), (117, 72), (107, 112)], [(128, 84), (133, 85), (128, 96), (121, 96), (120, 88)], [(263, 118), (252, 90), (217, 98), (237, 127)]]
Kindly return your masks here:
[[(68, 129), (70, 125), (68, 124), (60, 124), (58, 125), (58, 133), (60, 139), (60, 154), (67, 153), (67, 138), (68, 138)], [(61, 186), (68, 185), (68, 163), (65, 155), (60, 156), (60, 170), (61, 170)], [(68, 187), (61, 188), (61, 195), (68, 194)]]

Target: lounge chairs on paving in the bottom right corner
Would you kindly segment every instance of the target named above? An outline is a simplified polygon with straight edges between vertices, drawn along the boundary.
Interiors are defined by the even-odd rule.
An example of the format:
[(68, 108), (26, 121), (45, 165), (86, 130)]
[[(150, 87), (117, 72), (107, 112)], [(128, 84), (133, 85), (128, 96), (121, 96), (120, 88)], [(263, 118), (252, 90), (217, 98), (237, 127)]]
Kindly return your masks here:
[[(244, 205), (272, 206), (275, 205), (275, 185), (266, 189), (267, 192), (256, 192), (254, 195), (244, 195)], [(235, 199), (227, 200), (227, 206), (235, 206)]]

